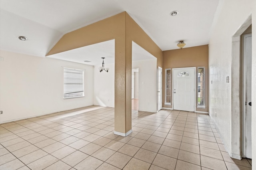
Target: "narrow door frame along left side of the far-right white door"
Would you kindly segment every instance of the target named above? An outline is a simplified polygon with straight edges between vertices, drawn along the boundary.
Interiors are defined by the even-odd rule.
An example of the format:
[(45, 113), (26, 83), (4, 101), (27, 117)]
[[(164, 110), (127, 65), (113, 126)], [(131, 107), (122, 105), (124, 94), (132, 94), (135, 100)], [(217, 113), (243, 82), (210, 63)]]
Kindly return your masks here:
[[(242, 34), (241, 35), (241, 44), (242, 44), (242, 59), (241, 59), (241, 62), (242, 62), (242, 89), (241, 89), (241, 98), (242, 98), (242, 125), (241, 125), (241, 128), (242, 128), (242, 133), (241, 133), (241, 136), (242, 136), (242, 141), (241, 141), (241, 146), (242, 146), (242, 157), (243, 158), (246, 158), (246, 106), (245, 106), (245, 102), (246, 102), (246, 41), (245, 39), (247, 37), (252, 37), (252, 33), (249, 33), (249, 34)], [(252, 130), (252, 128), (251, 128)]]

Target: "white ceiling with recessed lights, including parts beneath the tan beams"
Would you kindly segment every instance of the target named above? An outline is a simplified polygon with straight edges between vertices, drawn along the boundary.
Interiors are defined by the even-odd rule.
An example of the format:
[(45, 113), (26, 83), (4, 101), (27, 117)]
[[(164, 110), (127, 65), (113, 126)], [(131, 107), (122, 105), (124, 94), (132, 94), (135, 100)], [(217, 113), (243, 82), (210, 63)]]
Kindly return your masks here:
[[(209, 43), (218, 2), (219, 0), (1, 0), (0, 49), (45, 57), (64, 34), (123, 11), (128, 12), (163, 51), (177, 49), (176, 44), (180, 40), (184, 40), (185, 47), (205, 45)], [(170, 16), (170, 12), (174, 10), (178, 10), (179, 14)], [(21, 41), (19, 36), (26, 36), (28, 40)], [(99, 52), (99, 45), (106, 48), (100, 48), (102, 51)], [(49, 57), (72, 61), (72, 54), (73, 60), (77, 58), (74, 62), (92, 60), (86, 64), (94, 65), (95, 59), (98, 62), (101, 57), (113, 58), (113, 49), (111, 40)], [(148, 55), (133, 43), (133, 55), (137, 53), (137, 59), (140, 59), (142, 51), (145, 52), (144, 56)]]

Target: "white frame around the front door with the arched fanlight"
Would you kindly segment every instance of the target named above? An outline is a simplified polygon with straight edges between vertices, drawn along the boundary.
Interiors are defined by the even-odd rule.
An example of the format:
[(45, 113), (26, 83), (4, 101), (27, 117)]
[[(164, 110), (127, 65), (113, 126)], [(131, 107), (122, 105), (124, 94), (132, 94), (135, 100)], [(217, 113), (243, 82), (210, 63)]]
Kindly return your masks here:
[(174, 109), (174, 71), (175, 69), (194, 69), (194, 112), (196, 112), (196, 67), (172, 68), (172, 109)]

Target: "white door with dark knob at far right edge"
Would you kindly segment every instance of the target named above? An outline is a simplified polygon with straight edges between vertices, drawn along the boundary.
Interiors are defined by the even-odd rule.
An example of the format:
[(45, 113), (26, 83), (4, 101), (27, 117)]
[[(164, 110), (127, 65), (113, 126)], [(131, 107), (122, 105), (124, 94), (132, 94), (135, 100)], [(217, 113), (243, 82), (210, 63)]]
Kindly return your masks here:
[(244, 95), (245, 95), (245, 152), (243, 156), (252, 158), (252, 34), (242, 36), (244, 55)]

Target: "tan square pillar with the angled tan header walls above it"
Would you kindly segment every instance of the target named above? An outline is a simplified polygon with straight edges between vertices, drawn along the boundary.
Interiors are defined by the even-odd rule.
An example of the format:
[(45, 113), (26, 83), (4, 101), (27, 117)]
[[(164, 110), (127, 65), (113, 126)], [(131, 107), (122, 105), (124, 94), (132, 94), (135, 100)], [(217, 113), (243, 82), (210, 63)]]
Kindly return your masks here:
[(132, 41), (154, 55), (157, 65), (162, 67), (162, 50), (126, 12), (65, 34), (47, 55), (112, 39), (115, 39), (115, 131), (126, 133), (132, 128)]

